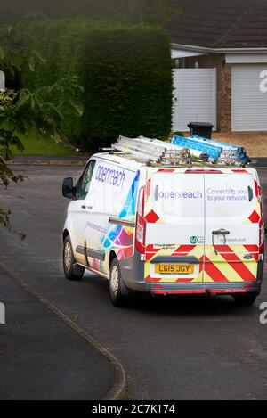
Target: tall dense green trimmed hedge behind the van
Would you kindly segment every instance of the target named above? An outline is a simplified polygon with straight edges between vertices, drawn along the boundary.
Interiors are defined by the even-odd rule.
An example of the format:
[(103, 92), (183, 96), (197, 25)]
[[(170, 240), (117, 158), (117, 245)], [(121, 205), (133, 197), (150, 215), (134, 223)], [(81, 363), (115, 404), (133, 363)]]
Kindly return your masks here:
[(117, 135), (165, 137), (171, 129), (172, 63), (162, 29), (40, 20), (29, 29), (28, 47), (45, 64), (24, 70), (30, 88), (77, 75), (85, 87), (85, 113), (69, 115), (64, 129), (70, 140), (87, 148), (108, 145)]

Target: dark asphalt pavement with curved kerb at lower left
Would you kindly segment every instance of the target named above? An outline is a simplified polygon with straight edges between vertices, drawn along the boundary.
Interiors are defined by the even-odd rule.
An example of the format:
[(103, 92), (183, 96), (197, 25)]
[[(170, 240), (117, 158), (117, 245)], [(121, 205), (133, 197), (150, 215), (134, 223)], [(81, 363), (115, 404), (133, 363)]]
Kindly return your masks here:
[(109, 361), (51, 310), (0, 270), (0, 400), (104, 398)]

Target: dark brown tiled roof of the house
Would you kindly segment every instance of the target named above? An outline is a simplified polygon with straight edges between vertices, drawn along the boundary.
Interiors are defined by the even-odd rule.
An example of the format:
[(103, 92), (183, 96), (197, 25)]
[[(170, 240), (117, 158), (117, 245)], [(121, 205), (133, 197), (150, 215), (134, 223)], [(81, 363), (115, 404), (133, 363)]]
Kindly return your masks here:
[(171, 21), (172, 41), (208, 48), (261, 48), (267, 45), (267, 1), (203, 0)]

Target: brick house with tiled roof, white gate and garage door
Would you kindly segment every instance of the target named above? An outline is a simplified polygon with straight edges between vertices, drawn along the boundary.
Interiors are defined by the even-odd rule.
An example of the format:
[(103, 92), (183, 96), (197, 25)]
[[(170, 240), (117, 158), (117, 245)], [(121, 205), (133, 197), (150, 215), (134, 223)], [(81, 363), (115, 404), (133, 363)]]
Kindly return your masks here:
[(267, 131), (267, 1), (203, 0), (166, 29), (174, 59), (173, 128)]

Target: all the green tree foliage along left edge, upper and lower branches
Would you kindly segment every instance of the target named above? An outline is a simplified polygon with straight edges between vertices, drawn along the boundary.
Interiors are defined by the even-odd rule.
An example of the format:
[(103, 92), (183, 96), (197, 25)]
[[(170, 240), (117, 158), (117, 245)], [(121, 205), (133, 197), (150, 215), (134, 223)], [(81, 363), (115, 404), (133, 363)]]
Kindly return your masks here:
[[(31, 70), (35, 61), (44, 61), (36, 52), (20, 47), (17, 42), (20, 29), (0, 28), (0, 65), (11, 71), (20, 70), (22, 61), (28, 59)], [(11, 36), (13, 33), (13, 37)], [(64, 139), (61, 122), (69, 112), (77, 117), (83, 114), (80, 98), (83, 87), (77, 85), (77, 78), (64, 78), (52, 86), (42, 86), (34, 91), (7, 89), (0, 93), (0, 185), (7, 187), (10, 182), (23, 181), (8, 167), (12, 160), (11, 145), (23, 151), (22, 135), (28, 137), (53, 137)], [(0, 224), (10, 226), (10, 212), (0, 208)]]

